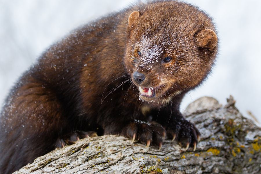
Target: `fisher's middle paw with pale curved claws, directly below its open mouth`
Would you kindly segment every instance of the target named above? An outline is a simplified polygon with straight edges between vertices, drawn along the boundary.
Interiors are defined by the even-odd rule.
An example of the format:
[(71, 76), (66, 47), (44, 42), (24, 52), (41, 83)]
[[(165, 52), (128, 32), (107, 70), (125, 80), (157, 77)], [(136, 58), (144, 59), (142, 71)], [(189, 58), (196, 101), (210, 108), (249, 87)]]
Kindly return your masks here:
[(166, 130), (156, 122), (147, 123), (135, 120), (135, 122), (125, 126), (121, 134), (132, 139), (133, 142), (138, 140), (146, 144), (147, 147), (153, 144), (161, 149), (163, 140), (166, 137)]

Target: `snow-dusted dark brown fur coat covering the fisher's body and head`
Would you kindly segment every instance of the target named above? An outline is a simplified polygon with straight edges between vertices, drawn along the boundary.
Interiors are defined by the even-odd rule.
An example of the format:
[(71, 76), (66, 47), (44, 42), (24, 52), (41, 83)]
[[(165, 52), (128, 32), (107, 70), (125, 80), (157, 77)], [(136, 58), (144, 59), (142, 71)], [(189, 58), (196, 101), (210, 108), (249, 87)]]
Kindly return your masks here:
[[(137, 4), (76, 29), (12, 88), (0, 119), (0, 173), (88, 136), (84, 131), (160, 147), (167, 134), (194, 147), (200, 133), (179, 106), (211, 71), (214, 31), (204, 12), (177, 1)], [(162, 52), (146, 57), (152, 49)], [(145, 75), (141, 84), (135, 71)], [(155, 87), (155, 97), (139, 96), (139, 86)]]

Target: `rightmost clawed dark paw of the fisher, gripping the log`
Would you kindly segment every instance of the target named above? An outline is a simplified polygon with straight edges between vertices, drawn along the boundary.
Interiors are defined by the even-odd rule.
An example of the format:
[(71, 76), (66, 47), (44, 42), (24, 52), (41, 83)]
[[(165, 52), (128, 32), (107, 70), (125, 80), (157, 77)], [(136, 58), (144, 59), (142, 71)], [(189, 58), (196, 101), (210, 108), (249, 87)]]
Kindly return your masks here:
[(185, 146), (186, 150), (189, 146), (193, 148), (193, 151), (196, 150), (200, 140), (200, 132), (191, 122), (185, 119), (178, 120), (168, 126), (167, 132), (172, 141), (176, 140), (181, 146)]

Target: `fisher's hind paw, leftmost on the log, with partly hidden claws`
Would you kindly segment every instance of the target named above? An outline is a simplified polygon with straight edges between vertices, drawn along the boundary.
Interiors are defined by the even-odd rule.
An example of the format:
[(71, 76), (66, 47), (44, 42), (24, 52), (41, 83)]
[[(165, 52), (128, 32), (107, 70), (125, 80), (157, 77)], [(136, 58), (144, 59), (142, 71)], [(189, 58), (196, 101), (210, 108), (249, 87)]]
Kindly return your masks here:
[(85, 132), (85, 131), (73, 131), (64, 135), (61, 138), (57, 138), (54, 143), (54, 147), (63, 148), (66, 145), (74, 144), (76, 141), (86, 137), (96, 137), (96, 132)]

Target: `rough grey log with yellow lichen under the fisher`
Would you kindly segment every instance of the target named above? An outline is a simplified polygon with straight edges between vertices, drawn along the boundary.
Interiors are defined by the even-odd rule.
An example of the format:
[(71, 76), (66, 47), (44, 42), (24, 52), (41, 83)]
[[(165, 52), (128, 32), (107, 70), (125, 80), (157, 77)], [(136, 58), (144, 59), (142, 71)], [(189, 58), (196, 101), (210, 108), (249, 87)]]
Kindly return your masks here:
[(161, 150), (117, 136), (85, 138), (38, 157), (15, 173), (261, 173), (261, 128), (230, 96), (202, 97), (184, 115), (202, 136), (196, 151), (166, 140)]

